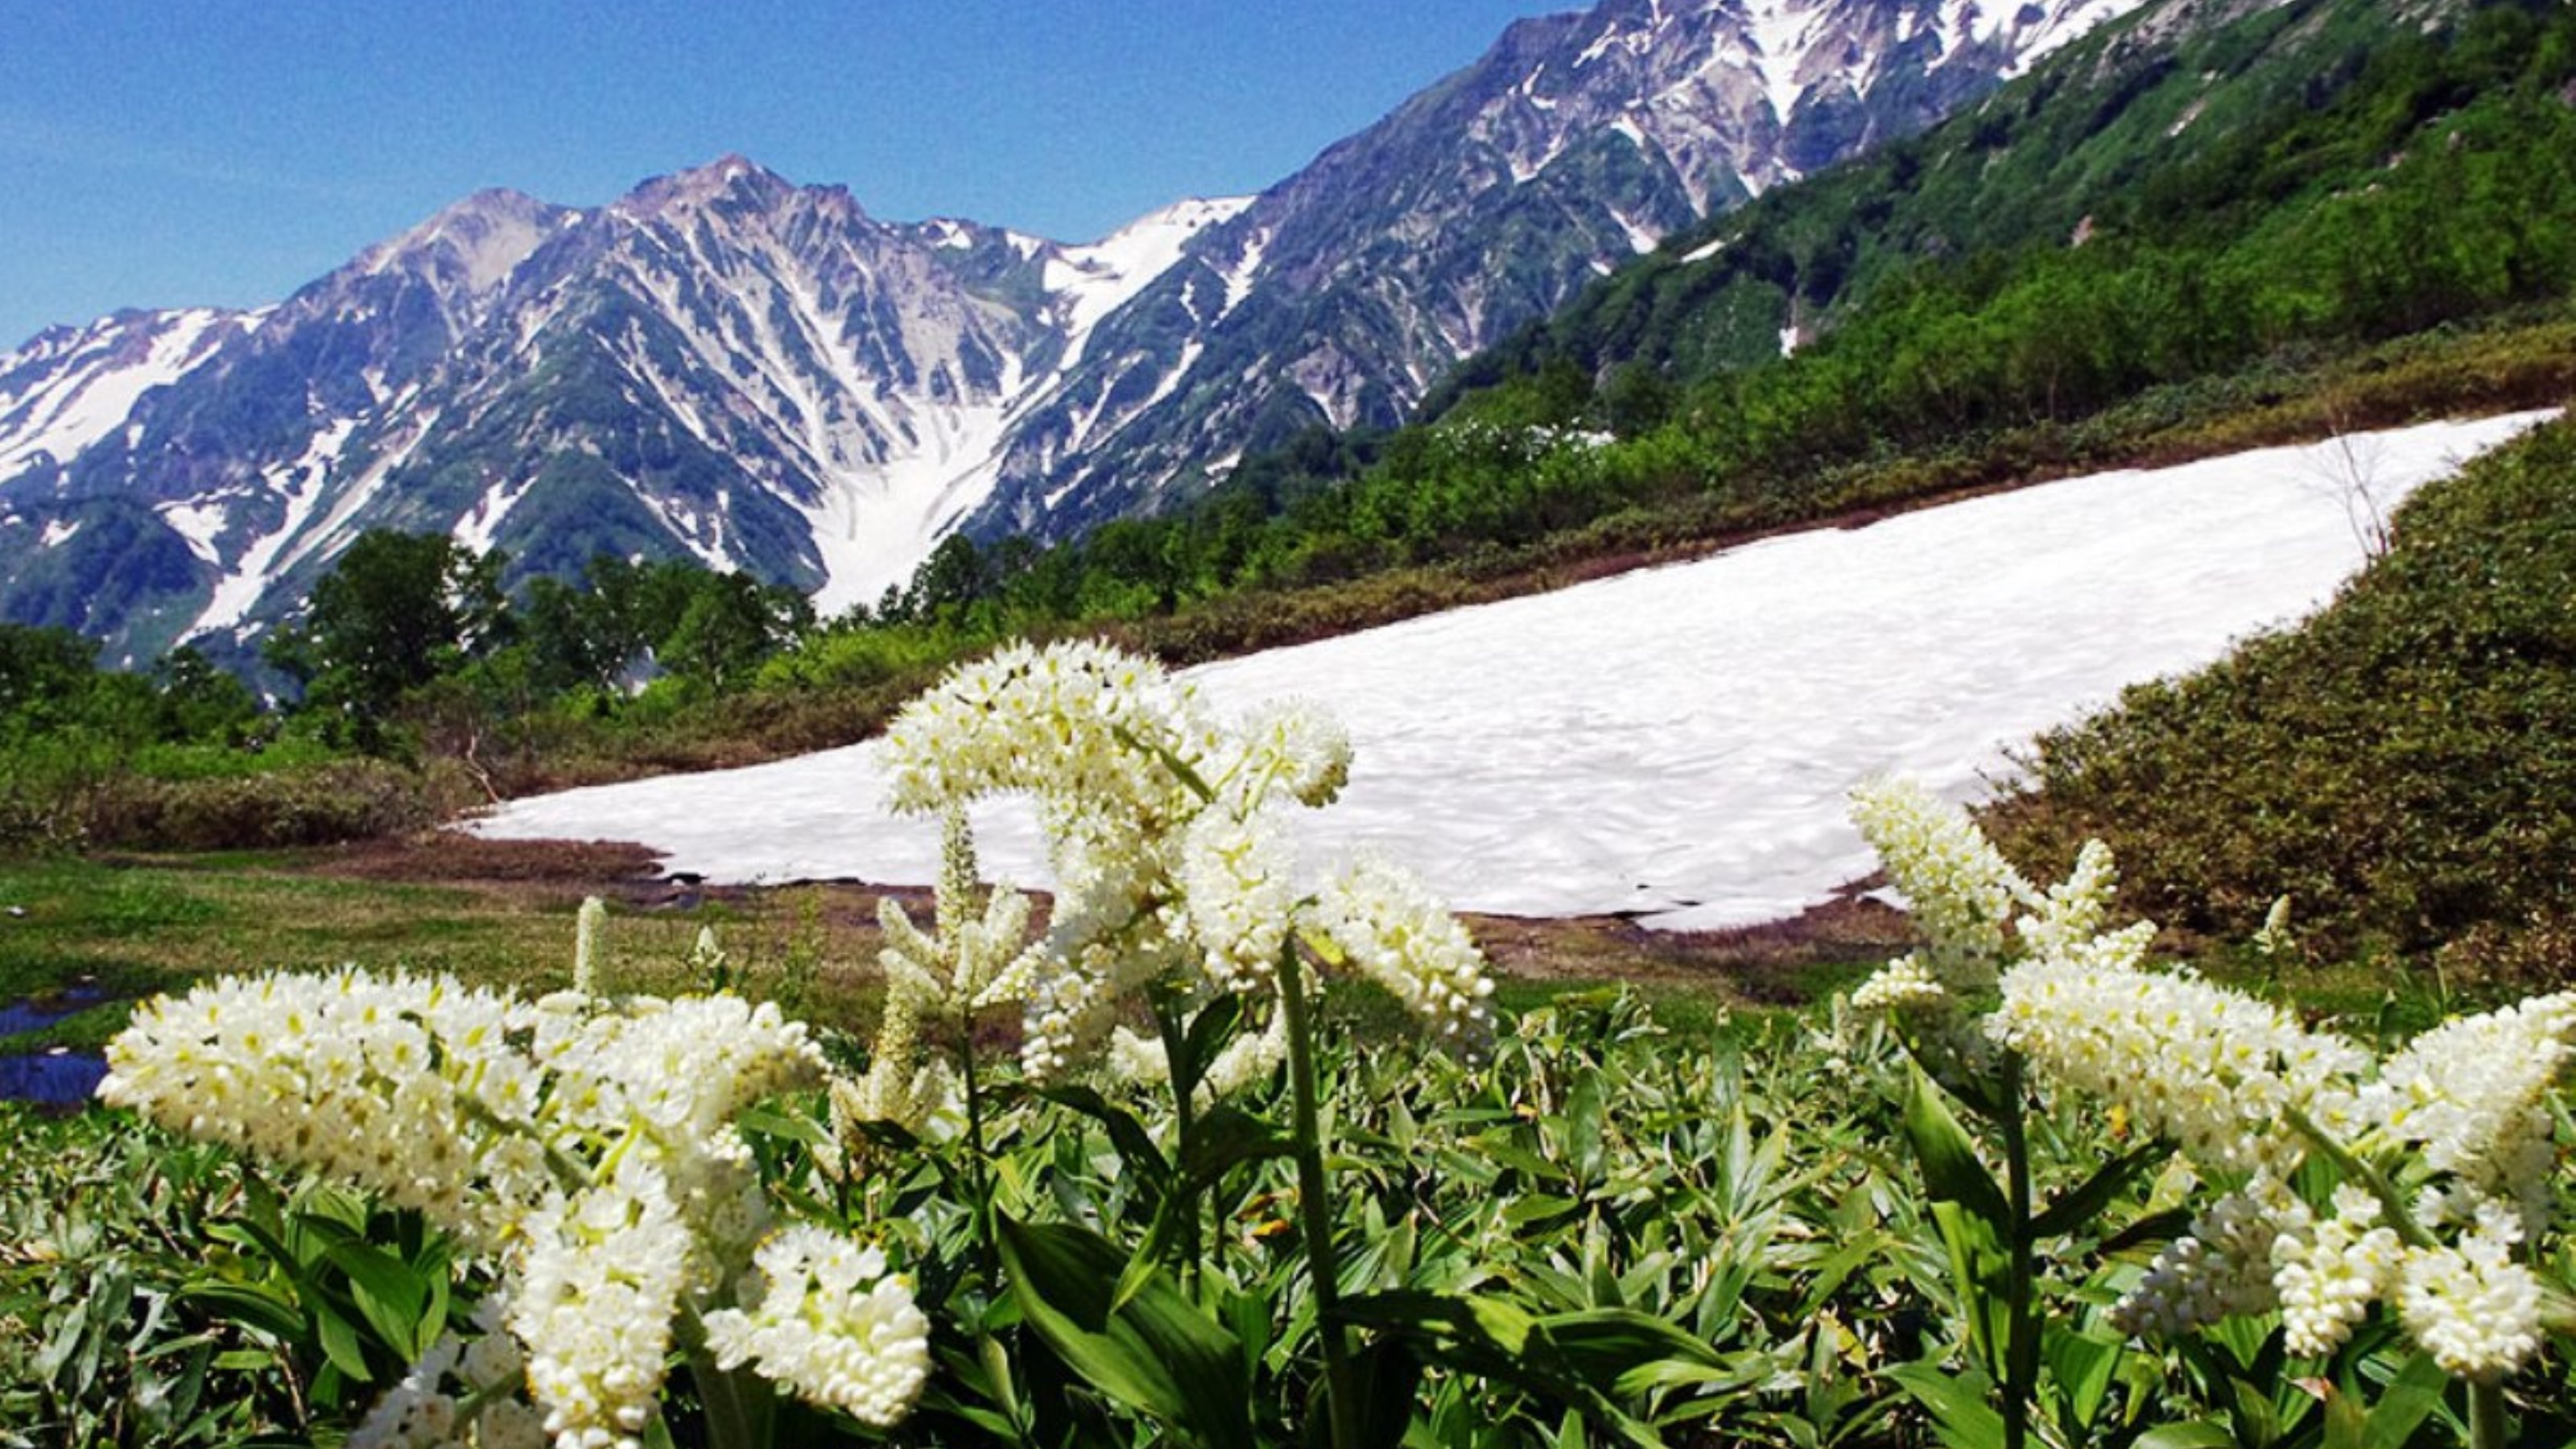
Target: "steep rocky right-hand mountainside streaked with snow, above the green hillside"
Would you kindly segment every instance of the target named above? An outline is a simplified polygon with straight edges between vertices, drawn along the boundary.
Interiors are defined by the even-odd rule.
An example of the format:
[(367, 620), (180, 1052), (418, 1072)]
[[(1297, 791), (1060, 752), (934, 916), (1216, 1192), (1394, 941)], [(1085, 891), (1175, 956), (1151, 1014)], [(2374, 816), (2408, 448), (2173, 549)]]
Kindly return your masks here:
[(1012, 436), (984, 534), (1072, 534), (1430, 382), (1664, 235), (1929, 126), (2138, 0), (1607, 0), (1520, 21), (1211, 227)]

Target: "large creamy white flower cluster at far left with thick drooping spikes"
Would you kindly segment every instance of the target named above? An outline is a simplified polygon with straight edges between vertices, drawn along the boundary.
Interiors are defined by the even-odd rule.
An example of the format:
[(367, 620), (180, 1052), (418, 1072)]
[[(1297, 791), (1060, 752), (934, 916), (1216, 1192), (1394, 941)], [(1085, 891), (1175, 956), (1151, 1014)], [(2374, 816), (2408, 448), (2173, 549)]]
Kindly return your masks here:
[[(768, 1230), (734, 1114), (819, 1080), (801, 1024), (732, 995), (531, 1003), (343, 969), (144, 1003), (100, 1098), (420, 1209), (502, 1269), (544, 1434), (603, 1449), (641, 1441), (672, 1315), (721, 1302)], [(440, 1374), (422, 1364), (417, 1413)]]

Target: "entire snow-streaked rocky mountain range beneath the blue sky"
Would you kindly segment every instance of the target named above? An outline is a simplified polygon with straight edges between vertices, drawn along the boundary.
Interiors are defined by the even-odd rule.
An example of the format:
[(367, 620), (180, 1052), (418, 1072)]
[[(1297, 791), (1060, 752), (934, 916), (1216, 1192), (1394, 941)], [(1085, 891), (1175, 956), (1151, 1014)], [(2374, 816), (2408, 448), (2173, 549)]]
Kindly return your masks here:
[(2138, 3), (1605, 0), (1092, 245), (878, 222), (744, 157), (600, 209), (487, 191), (276, 307), (0, 356), (0, 616), (234, 647), (376, 526), (868, 603), (948, 531), (1069, 536), (1396, 423), (1662, 237)]

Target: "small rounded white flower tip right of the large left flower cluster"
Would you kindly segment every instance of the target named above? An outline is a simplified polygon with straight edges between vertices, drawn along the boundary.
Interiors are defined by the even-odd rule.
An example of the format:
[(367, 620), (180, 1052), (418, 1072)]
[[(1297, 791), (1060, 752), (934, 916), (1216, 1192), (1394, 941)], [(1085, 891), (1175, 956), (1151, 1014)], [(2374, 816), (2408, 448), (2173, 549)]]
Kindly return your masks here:
[(760, 1299), (706, 1315), (706, 1343), (726, 1369), (752, 1364), (809, 1403), (886, 1428), (930, 1379), (930, 1320), (886, 1253), (819, 1227), (786, 1227), (760, 1245)]

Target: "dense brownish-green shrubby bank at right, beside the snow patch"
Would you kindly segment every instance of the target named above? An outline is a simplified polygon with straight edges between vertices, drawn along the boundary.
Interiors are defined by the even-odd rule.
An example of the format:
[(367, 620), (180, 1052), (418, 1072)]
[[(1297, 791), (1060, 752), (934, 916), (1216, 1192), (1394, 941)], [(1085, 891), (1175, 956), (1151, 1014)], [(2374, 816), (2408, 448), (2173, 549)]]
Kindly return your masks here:
[(2105, 838), (2130, 902), (2517, 985), (2576, 944), (2576, 423), (2427, 487), (2316, 619), (2043, 737), (2014, 853)]

